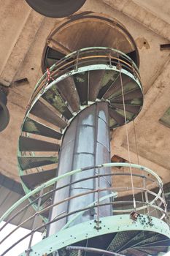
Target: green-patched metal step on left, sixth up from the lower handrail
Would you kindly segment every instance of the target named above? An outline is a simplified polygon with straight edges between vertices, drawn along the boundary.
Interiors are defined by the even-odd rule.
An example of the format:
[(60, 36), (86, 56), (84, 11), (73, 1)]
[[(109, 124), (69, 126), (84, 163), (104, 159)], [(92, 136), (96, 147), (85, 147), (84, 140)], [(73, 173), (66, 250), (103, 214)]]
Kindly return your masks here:
[(72, 118), (72, 112), (69, 110), (66, 101), (62, 99), (61, 94), (59, 93), (57, 86), (52, 86), (45, 94), (42, 95), (42, 98), (45, 99), (50, 105), (53, 106), (62, 116), (66, 119)]

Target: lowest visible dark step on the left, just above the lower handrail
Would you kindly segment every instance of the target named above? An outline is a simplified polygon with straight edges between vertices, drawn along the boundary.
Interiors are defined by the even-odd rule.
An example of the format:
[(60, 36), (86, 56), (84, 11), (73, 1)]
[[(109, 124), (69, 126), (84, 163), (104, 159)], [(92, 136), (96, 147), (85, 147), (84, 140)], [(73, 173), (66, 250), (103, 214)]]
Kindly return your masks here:
[(34, 189), (40, 184), (49, 181), (51, 178), (55, 178), (57, 172), (57, 168), (51, 170), (44, 170), (39, 173), (31, 173), (27, 175), (20, 176), (23, 183), (26, 184), (28, 189)]

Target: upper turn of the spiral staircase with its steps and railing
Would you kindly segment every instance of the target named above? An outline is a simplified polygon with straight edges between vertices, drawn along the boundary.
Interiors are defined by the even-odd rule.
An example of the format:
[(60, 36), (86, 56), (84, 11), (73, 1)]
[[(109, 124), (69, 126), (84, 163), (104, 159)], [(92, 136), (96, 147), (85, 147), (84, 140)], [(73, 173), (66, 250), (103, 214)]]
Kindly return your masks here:
[[(119, 65), (125, 68), (120, 69)], [(50, 72), (50, 76), (44, 75), (31, 97), (19, 140), (20, 177), (28, 189), (55, 177), (56, 167), (43, 172), (30, 169), (58, 163), (63, 133), (82, 110), (98, 102), (108, 102), (110, 129), (125, 124), (120, 72), (127, 121), (134, 119), (142, 108), (138, 69), (128, 56), (117, 50), (80, 50), (58, 61)], [(39, 136), (53, 138), (58, 143), (40, 140)], [(41, 155), (41, 152), (50, 152), (50, 155)]]

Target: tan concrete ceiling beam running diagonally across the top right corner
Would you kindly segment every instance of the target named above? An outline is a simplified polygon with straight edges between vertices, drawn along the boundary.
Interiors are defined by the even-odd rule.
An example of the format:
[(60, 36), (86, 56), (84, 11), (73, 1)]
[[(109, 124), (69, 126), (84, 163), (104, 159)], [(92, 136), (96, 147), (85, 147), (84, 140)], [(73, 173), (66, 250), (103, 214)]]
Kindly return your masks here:
[(132, 0), (103, 0), (105, 4), (109, 5), (124, 15), (133, 18), (143, 26), (150, 29), (155, 34), (164, 37), (170, 41), (170, 24), (165, 20), (158, 18), (149, 10), (144, 9), (139, 4), (134, 3)]

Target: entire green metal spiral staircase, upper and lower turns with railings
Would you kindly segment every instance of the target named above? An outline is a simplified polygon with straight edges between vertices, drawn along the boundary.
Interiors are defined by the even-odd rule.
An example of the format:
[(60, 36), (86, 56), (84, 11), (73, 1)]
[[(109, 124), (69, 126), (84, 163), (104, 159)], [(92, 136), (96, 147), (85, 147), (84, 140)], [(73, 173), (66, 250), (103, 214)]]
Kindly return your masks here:
[[(136, 118), (142, 105), (139, 70), (120, 50), (84, 48), (47, 69), (31, 96), (19, 138), (18, 167), (26, 196), (1, 217), (8, 222), (17, 217), (26, 199), (30, 203), (25, 207), (36, 210), (29, 217), (34, 224), (27, 235), (31, 237), (28, 249), (20, 256), (149, 256), (169, 251), (163, 184), (152, 170), (131, 163), (96, 163), (75, 170), (70, 167), (63, 173), (58, 167), (63, 140), (83, 113), (90, 116), (93, 109), (107, 108), (109, 129), (115, 129)], [(98, 120), (107, 124), (100, 115), (98, 112)], [(88, 135), (86, 140), (90, 143)], [(90, 181), (95, 184), (93, 189), (88, 187)], [(88, 203), (90, 195), (95, 200)], [(123, 200), (126, 195), (128, 199)], [(77, 207), (69, 208), (75, 200)], [(52, 211), (65, 204), (66, 211), (53, 218)], [(20, 210), (11, 215), (16, 208)], [(44, 224), (36, 227), (39, 216)], [(49, 227), (61, 222), (64, 224), (50, 234)], [(34, 232), (39, 230), (47, 234), (32, 246)]]

